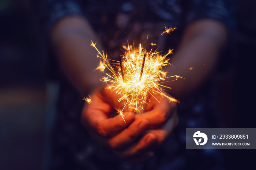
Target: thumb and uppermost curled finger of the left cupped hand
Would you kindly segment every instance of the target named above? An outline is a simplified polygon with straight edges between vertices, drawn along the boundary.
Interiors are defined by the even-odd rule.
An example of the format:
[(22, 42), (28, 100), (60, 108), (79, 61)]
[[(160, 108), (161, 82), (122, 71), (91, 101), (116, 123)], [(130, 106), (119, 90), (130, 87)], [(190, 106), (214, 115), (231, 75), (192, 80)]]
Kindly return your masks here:
[(123, 116), (112, 117), (113, 106), (106, 100), (114, 96), (113, 93), (105, 91), (109, 90), (98, 89), (91, 95), (93, 102), (85, 105), (82, 111), (82, 124), (101, 136), (110, 136), (129, 125), (134, 120), (134, 113), (123, 113)]

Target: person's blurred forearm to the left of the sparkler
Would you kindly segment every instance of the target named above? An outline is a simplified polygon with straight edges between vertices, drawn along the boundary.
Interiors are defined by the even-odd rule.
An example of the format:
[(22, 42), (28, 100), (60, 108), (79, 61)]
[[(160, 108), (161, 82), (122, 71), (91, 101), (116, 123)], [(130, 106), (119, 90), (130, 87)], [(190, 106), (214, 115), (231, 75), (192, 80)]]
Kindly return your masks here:
[[(52, 30), (51, 40), (64, 72), (74, 86), (85, 94), (102, 77), (93, 71), (99, 63), (97, 51), (90, 44), (97, 36), (90, 24), (79, 16), (61, 19)], [(101, 45), (97, 43), (101, 50)]]

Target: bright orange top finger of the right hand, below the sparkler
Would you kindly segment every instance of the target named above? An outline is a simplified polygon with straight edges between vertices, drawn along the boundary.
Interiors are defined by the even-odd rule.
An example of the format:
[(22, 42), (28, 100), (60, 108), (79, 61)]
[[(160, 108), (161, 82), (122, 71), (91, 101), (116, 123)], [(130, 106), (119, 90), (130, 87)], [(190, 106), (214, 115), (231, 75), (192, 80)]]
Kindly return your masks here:
[(168, 101), (161, 101), (154, 105), (151, 111), (145, 112), (143, 114), (136, 114), (136, 119), (145, 118), (148, 120), (149, 125), (160, 125), (164, 123), (168, 117), (170, 117), (174, 111), (176, 111), (177, 104), (169, 103)]

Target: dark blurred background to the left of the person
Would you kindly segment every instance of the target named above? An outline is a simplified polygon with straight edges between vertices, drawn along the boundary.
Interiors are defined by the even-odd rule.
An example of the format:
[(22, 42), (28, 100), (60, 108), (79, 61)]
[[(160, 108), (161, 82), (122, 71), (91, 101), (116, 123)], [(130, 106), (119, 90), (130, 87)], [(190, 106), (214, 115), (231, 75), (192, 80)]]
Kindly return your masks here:
[(0, 169), (41, 169), (45, 50), (28, 0), (0, 0)]

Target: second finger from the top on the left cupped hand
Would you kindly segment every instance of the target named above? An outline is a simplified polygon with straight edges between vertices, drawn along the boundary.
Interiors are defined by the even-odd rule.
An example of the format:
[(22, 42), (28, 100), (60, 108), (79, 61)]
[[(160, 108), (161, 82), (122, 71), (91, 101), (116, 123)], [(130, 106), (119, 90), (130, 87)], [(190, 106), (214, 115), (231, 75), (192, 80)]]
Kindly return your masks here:
[(112, 149), (121, 149), (131, 144), (148, 127), (146, 119), (135, 120), (128, 128), (120, 132), (109, 140), (109, 146)]

